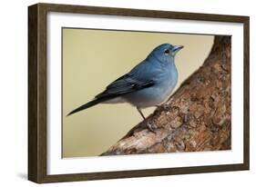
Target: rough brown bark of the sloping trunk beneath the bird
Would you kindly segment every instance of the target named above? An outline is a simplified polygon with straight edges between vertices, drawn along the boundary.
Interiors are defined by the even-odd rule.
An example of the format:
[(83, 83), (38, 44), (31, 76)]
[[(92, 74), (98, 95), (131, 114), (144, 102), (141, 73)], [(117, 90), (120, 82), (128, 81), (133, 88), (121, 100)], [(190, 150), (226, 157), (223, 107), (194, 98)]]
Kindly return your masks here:
[[(102, 155), (230, 149), (230, 48), (230, 36), (215, 36), (200, 69)], [(155, 133), (147, 123), (157, 126)]]

